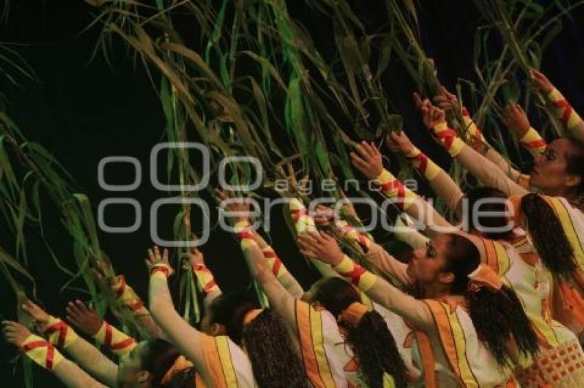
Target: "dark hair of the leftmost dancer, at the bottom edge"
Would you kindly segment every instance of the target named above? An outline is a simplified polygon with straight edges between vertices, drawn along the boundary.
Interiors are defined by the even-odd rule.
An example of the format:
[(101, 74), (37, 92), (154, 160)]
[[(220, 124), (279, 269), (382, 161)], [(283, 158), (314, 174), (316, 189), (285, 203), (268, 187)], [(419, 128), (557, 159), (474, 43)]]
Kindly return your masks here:
[(171, 343), (160, 338), (151, 338), (146, 343), (146, 355), (141, 360), (142, 369), (152, 375), (155, 388), (194, 388), (194, 368), (177, 371), (170, 382), (161, 384), (162, 378), (181, 355)]

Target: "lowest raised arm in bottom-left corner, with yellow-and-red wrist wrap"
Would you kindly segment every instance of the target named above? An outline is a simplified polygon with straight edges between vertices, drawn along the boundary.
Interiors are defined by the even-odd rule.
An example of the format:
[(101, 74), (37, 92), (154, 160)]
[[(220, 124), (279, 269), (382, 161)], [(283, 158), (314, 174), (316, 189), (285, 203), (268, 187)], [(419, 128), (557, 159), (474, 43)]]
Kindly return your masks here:
[(17, 322), (3, 321), (3, 333), (6, 341), (20, 349), (27, 358), (30, 358), (43, 369), (52, 372), (65, 387), (69, 388), (102, 388), (115, 387), (103, 385), (94, 380), (75, 363), (67, 360), (54, 345), (30, 331)]

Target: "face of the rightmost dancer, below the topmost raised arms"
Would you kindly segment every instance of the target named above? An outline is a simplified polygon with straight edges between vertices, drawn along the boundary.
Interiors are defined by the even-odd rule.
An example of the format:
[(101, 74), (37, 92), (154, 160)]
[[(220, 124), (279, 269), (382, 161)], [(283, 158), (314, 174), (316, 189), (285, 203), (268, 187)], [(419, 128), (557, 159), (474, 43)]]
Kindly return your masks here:
[(546, 195), (566, 195), (581, 180), (578, 175), (566, 171), (569, 155), (573, 152), (574, 147), (566, 138), (551, 142), (546, 151), (535, 160), (531, 184), (541, 188)]

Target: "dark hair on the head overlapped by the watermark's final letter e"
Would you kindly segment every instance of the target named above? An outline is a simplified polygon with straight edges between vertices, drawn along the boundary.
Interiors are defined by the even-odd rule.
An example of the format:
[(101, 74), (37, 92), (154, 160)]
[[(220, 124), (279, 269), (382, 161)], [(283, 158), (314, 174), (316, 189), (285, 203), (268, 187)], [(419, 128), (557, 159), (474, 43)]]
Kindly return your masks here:
[[(508, 227), (508, 220), (503, 214), (506, 211), (505, 199), (507, 195), (500, 191), (498, 188), (479, 186), (471, 188), (467, 191), (465, 195), (467, 203), (469, 206), (468, 217), (469, 225), (475, 230), (480, 230), (483, 235), (489, 239), (508, 239), (513, 233), (513, 229)], [(493, 202), (484, 202), (480, 206), (479, 201), (484, 201), (486, 199), (497, 199)], [(481, 213), (476, 213), (480, 211)], [(497, 212), (501, 215), (498, 217), (493, 217), (493, 215), (481, 216), (483, 212)], [(476, 216), (476, 217), (475, 217)], [(478, 222), (475, 225), (475, 219)], [(488, 228), (489, 230), (485, 230)], [(496, 229), (496, 230), (491, 230)], [(497, 231), (499, 230), (499, 231)]]

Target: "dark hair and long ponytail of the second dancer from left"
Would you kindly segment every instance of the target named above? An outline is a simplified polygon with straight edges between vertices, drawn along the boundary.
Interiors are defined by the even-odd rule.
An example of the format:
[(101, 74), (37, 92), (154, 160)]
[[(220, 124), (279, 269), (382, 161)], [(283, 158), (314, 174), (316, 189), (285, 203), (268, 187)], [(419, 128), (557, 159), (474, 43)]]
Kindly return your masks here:
[(310, 387), (302, 360), (282, 318), (267, 308), (244, 325), (256, 305), (243, 295), (222, 294), (209, 305), (212, 323), (224, 325), (234, 343), (245, 346), (258, 387)]

